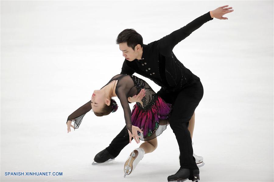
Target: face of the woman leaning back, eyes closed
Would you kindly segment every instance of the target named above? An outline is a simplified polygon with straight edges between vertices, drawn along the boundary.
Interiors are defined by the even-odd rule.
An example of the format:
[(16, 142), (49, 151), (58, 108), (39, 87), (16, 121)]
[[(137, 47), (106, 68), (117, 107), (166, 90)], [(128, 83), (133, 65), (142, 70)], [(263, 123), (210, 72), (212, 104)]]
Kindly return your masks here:
[(91, 96), (91, 107), (93, 112), (100, 113), (104, 108), (104, 105), (107, 104), (107, 98), (104, 95), (104, 92), (101, 90), (94, 90)]

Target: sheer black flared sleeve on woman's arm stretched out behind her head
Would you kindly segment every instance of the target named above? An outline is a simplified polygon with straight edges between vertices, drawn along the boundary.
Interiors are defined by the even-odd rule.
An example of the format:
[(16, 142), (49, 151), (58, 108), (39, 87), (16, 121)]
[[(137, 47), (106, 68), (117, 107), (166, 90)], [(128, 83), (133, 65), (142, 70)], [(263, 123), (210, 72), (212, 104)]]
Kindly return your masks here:
[(79, 126), (83, 120), (83, 117), (91, 109), (92, 109), (92, 107), (91, 107), (91, 100), (90, 100), (89, 102), (85, 103), (83, 106), (79, 107), (71, 115), (69, 115), (68, 119), (67, 119), (67, 123), (68, 123), (68, 120), (73, 121), (74, 122), (74, 130), (79, 128)]

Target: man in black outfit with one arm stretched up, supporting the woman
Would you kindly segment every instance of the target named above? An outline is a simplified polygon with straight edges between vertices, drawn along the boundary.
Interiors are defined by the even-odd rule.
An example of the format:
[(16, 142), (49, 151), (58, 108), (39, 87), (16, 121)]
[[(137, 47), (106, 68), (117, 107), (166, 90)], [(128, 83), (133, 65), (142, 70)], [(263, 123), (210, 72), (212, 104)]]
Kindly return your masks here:
[[(116, 43), (119, 44), (119, 49), (125, 57), (121, 74), (132, 75), (136, 72), (153, 80), (161, 86), (157, 94), (173, 105), (169, 122), (179, 145), (180, 169), (176, 174), (168, 176), (168, 181), (199, 180), (199, 169), (193, 157), (188, 123), (203, 97), (200, 78), (187, 69), (172, 50), (177, 43), (213, 18), (228, 19), (222, 17), (233, 11), (230, 10), (232, 7), (226, 8), (227, 6), (209, 11), (181, 29), (148, 45), (143, 44), (142, 36), (134, 29), (125, 29), (117, 37)], [(134, 133), (133, 130), (132, 133)], [(94, 161), (105, 162), (118, 156), (129, 143), (125, 135), (125, 128), (123, 128), (111, 144), (95, 156)], [(133, 138), (139, 142), (138, 136)]]

